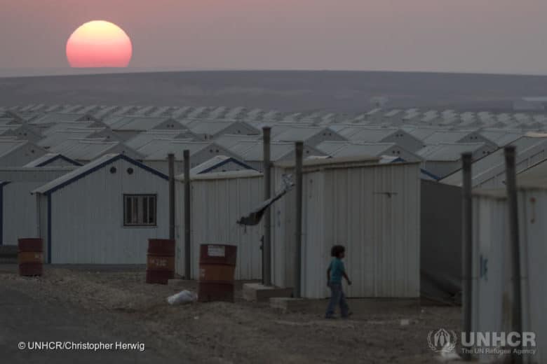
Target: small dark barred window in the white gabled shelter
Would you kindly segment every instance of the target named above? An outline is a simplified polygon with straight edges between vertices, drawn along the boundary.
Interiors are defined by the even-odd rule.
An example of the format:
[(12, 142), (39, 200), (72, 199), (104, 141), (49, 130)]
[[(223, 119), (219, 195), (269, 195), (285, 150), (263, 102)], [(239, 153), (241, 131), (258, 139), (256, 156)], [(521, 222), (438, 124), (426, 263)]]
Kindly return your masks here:
[(156, 226), (156, 195), (123, 195), (124, 226)]

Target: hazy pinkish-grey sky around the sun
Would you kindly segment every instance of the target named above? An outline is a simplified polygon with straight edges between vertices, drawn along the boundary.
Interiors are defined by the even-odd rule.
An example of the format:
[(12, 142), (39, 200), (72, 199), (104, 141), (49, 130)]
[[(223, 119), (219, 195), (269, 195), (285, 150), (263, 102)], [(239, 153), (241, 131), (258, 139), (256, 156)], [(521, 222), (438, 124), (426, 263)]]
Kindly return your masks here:
[(547, 74), (545, 0), (0, 0), (0, 69), (67, 67), (108, 20), (131, 67)]

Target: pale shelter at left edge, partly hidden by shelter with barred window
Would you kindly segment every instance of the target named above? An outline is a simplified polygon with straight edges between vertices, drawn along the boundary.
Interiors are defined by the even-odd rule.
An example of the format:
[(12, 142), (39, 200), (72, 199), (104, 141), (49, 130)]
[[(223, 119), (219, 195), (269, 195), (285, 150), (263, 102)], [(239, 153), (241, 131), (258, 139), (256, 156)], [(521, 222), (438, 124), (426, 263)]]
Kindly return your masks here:
[(76, 167), (0, 169), (0, 245), (17, 245), (19, 238), (36, 237), (36, 197), (32, 190)]

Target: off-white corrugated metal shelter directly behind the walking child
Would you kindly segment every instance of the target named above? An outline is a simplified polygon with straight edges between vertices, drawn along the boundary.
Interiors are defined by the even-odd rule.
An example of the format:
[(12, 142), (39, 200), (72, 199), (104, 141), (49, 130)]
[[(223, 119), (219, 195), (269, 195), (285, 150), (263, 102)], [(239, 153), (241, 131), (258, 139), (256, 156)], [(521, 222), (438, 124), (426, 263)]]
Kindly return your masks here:
[[(418, 163), (377, 165), (353, 158), (304, 162), (302, 296), (330, 295), (330, 248), (346, 246), (350, 297), (419, 297), (420, 171)], [(290, 164), (274, 168), (276, 188)], [(274, 204), (272, 277), (295, 283), (295, 191)]]

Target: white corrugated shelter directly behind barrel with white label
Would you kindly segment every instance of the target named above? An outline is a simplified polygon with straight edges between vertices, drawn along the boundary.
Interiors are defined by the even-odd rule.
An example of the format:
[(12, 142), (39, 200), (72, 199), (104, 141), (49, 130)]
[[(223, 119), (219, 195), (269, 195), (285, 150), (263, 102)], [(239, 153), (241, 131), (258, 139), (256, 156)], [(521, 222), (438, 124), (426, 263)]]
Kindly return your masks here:
[[(177, 176), (177, 274), (184, 275), (184, 176)], [(201, 244), (238, 247), (236, 279), (262, 277), (262, 224), (236, 221), (262, 204), (262, 174), (247, 170), (191, 176), (191, 278), (199, 276)]]

